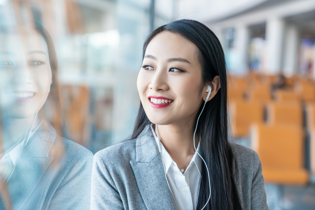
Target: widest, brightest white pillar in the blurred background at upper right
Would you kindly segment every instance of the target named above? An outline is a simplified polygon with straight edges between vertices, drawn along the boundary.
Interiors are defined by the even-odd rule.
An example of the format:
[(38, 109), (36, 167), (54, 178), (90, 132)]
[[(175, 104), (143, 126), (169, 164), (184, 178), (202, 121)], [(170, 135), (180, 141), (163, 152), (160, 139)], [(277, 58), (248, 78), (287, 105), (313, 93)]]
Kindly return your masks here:
[(266, 71), (274, 75), (281, 71), (284, 20), (270, 18), (266, 21)]

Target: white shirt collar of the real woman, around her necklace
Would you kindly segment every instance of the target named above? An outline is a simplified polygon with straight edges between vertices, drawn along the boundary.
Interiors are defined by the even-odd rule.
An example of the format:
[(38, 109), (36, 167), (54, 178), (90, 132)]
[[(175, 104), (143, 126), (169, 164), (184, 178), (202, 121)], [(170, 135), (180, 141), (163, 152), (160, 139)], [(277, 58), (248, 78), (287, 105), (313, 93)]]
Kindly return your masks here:
[[(160, 157), (162, 158), (162, 161), (163, 161), (163, 164), (164, 164), (164, 167), (165, 167), (165, 173), (167, 173), (167, 171), (169, 170), (169, 167), (171, 166), (172, 162), (173, 162), (173, 159), (172, 157), (169, 155), (169, 153), (167, 152), (167, 150), (164, 148), (163, 144), (161, 143), (161, 150), (162, 150), (162, 154), (161, 152), (159, 151), (159, 140), (157, 139), (157, 135), (155, 134), (155, 131), (153, 129), (153, 126), (151, 124), (151, 131), (152, 131), (152, 134), (153, 134), (153, 137), (154, 137), (154, 140), (155, 140), (155, 143), (156, 143), (156, 146), (157, 146), (157, 151), (159, 152), (160, 154)], [(198, 143), (198, 147), (197, 147), (197, 151), (199, 152), (200, 154), (200, 144)], [(200, 173), (200, 169), (201, 169), (201, 164), (202, 164), (202, 159), (200, 158), (200, 156), (197, 154), (197, 151), (195, 152), (195, 154), (192, 156), (192, 159), (189, 163), (189, 165), (187, 166), (187, 169), (192, 165), (192, 164), (195, 164), (197, 169), (198, 169), (198, 172)], [(177, 165), (176, 165), (177, 167)]]

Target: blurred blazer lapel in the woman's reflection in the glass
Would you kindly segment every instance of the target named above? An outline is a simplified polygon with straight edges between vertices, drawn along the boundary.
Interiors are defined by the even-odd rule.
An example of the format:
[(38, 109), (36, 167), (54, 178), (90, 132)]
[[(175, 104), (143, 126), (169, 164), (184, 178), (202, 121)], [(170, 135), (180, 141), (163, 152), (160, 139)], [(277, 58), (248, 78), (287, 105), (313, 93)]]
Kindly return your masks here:
[(7, 183), (13, 209), (21, 209), (49, 167), (49, 150), (55, 136), (51, 128), (39, 128), (24, 148)]

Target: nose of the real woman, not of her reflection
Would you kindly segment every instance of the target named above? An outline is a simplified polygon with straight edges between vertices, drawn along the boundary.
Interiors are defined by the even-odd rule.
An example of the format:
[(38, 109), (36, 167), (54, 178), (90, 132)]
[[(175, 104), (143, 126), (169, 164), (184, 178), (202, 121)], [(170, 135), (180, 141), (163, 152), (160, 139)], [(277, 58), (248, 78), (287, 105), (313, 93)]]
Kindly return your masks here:
[(165, 71), (165, 69), (163, 68), (156, 69), (154, 71), (149, 88), (156, 92), (167, 91), (169, 89), (167, 80), (168, 80), (167, 71)]

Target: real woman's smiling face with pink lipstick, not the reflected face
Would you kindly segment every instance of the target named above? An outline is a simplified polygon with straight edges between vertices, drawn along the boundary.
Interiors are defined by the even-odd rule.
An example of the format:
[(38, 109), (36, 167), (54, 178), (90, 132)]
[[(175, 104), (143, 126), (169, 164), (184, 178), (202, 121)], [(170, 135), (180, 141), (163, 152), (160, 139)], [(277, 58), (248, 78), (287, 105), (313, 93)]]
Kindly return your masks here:
[(157, 34), (148, 44), (137, 88), (152, 123), (184, 124), (195, 119), (202, 103), (196, 50), (195, 44), (168, 31)]

